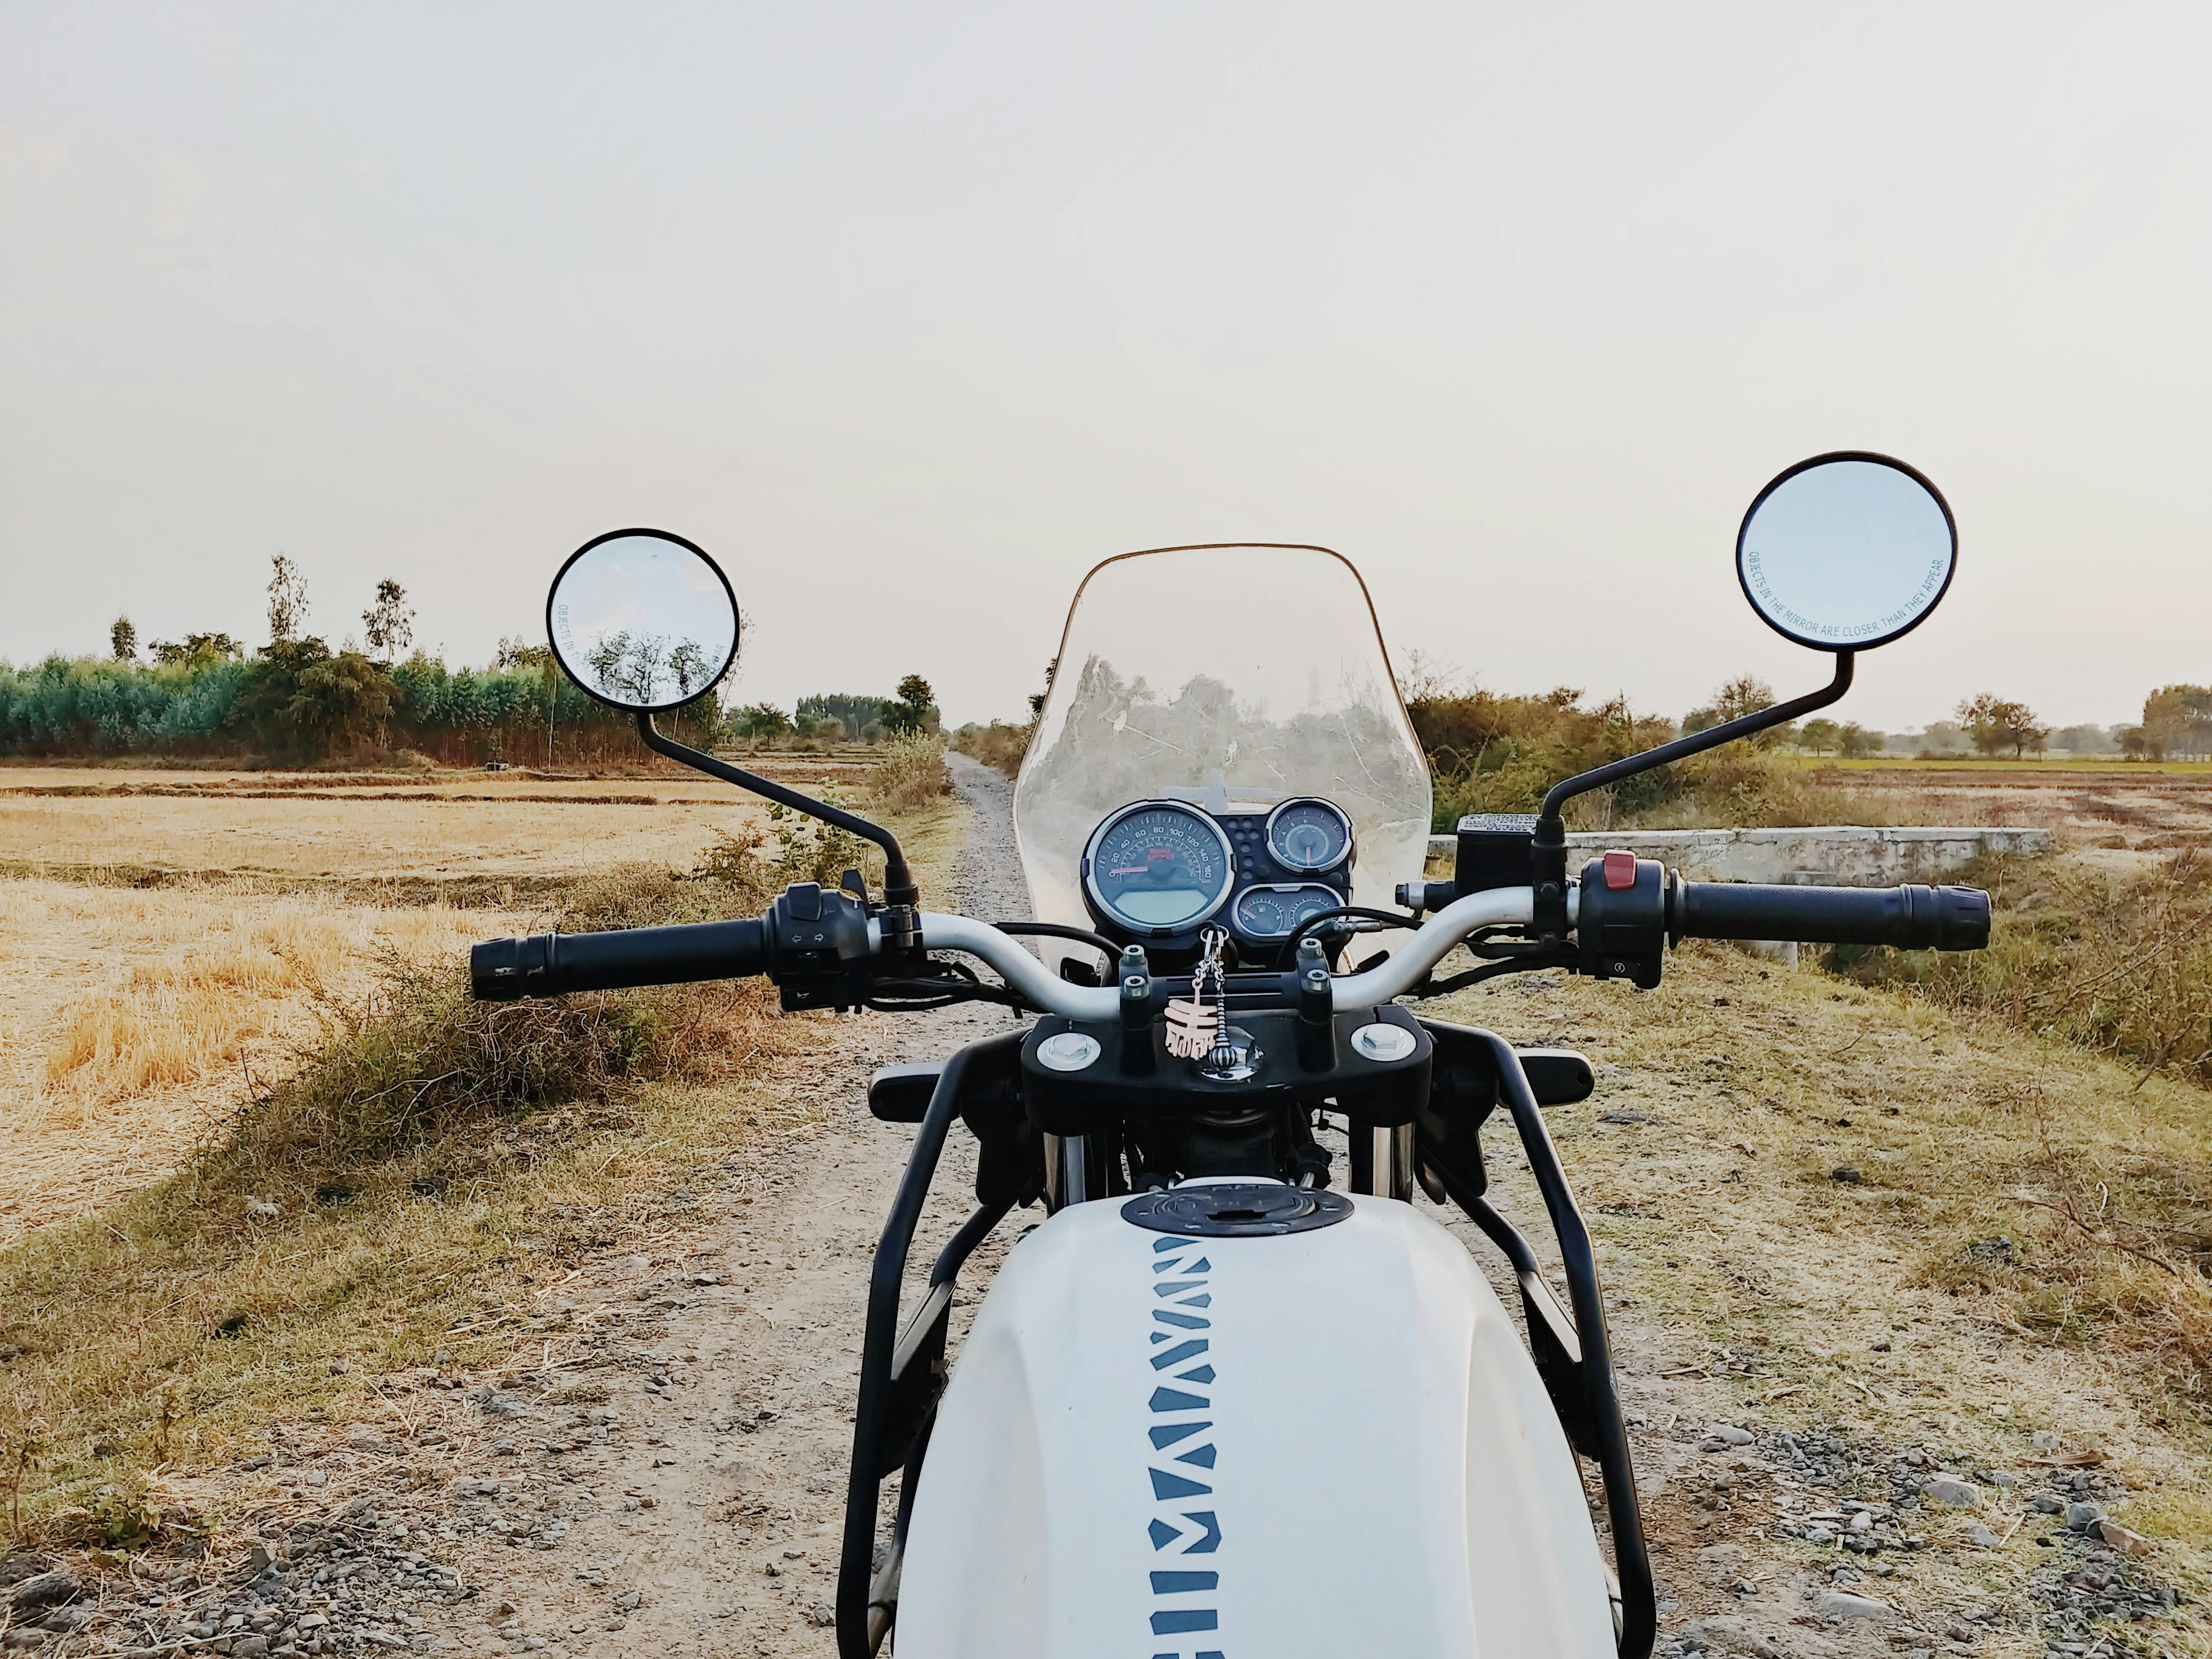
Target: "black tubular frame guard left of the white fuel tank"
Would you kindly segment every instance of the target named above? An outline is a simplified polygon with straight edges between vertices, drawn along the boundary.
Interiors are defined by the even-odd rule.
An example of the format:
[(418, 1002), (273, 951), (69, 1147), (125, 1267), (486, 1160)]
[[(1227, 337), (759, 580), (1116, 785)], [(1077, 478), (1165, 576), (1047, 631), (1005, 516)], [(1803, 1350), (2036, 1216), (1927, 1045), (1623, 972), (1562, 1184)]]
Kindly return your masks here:
[[(929, 1110), (922, 1113), (920, 1128), (914, 1133), (914, 1152), (907, 1157), (907, 1172), (898, 1179), (898, 1197), (891, 1199), (891, 1214), (883, 1223), (883, 1239), (876, 1243), (876, 1263), (867, 1276), (867, 1329), (860, 1336), (860, 1398), (854, 1402), (852, 1469), (845, 1478), (845, 1537), (836, 1573), (838, 1659), (869, 1659), (876, 1650), (876, 1644), (869, 1641), (867, 1615), (876, 1571), (876, 1509), (885, 1473), (878, 1469), (878, 1462), (891, 1411), (891, 1354), (898, 1347), (898, 1294), (907, 1279), (914, 1228), (922, 1219), (922, 1201), (929, 1197), (938, 1159), (945, 1155), (945, 1135), (960, 1113), (960, 1084), (967, 1077), (969, 1064), (993, 1048), (1020, 1048), (1024, 1035), (1024, 1031), (1009, 1031), (998, 1037), (984, 1037), (953, 1051), (951, 1060), (945, 1062), (945, 1071), (938, 1073), (938, 1086), (929, 1093)], [(984, 1206), (971, 1214), (951, 1243), (945, 1245), (929, 1272), (931, 1287), (958, 1274), (967, 1254), (982, 1243), (991, 1225), (998, 1225), (998, 1217), (1004, 1210), (991, 1217), (991, 1225), (978, 1225), (993, 1208)], [(905, 1491), (900, 1498), (905, 1498)]]

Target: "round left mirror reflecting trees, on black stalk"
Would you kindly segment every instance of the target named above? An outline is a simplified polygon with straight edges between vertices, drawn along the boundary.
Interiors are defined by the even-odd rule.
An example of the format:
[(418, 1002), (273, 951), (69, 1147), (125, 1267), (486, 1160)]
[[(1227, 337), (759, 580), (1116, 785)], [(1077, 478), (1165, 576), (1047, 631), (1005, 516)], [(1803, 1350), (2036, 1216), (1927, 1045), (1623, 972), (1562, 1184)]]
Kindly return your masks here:
[(655, 714), (712, 690), (737, 661), (737, 593), (668, 531), (608, 531), (553, 577), (546, 637), (562, 672), (615, 708)]

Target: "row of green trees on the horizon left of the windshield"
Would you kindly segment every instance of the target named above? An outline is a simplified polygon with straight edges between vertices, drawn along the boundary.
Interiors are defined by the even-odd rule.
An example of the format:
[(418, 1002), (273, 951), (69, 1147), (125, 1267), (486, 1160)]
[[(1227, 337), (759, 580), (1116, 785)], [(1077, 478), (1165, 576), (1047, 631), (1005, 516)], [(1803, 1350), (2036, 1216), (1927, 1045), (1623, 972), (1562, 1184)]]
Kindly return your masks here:
[[(630, 717), (580, 692), (546, 646), (502, 639), (489, 668), (447, 668), (414, 650), (414, 608), (392, 580), (336, 650), (307, 633), (307, 584), (279, 555), (270, 568), (270, 639), (248, 653), (226, 633), (155, 639), (117, 617), (108, 657), (0, 664), (0, 754), (237, 754), (323, 761), (416, 750), (445, 763), (557, 763), (635, 754)], [(692, 743), (776, 737), (860, 739), (933, 730), (929, 684), (896, 697), (816, 697), (783, 714), (723, 710), (701, 697), (664, 717)]]

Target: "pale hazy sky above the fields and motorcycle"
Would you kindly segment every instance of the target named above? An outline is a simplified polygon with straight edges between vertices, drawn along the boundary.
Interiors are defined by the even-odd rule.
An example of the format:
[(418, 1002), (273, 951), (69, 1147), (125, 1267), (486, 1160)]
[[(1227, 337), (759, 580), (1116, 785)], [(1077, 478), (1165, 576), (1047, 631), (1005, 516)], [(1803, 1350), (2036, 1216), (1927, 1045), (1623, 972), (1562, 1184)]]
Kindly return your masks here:
[[(1918, 465), (1878, 728), (2212, 681), (2201, 4), (0, 2), (0, 657), (679, 531), (739, 695), (1018, 714), (1097, 560), (1321, 542), (1394, 653), (1679, 714), (1736, 524)], [(1263, 595), (1208, 595), (1265, 628)], [(1252, 615), (1243, 606), (1252, 602)]]

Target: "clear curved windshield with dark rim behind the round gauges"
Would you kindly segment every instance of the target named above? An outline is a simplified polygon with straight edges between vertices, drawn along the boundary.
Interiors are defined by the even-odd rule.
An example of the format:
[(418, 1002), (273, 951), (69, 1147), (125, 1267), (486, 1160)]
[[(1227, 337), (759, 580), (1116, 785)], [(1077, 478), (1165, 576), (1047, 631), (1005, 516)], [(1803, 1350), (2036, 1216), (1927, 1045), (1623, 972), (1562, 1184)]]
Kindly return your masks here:
[(1354, 902), (1420, 880), (1429, 765), (1358, 571), (1318, 546), (1172, 546), (1091, 571), (1013, 785), (1037, 918), (1091, 925), (1082, 852), (1119, 805), (1296, 794), (1349, 814)]

